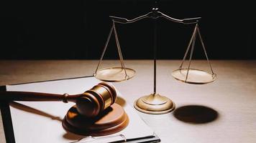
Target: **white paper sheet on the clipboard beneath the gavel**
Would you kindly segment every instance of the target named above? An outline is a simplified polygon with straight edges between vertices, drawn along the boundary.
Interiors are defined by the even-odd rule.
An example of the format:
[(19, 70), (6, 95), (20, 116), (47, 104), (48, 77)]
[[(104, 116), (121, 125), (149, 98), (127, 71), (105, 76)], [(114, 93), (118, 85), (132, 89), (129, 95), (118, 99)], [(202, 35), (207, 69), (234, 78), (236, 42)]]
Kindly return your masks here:
[[(6, 86), (7, 91), (46, 92), (52, 94), (81, 94), (100, 81), (93, 77), (68, 79), (53, 82), (19, 84)], [(121, 132), (127, 139), (147, 137), (152, 129), (140, 119), (134, 108), (125, 102), (119, 93), (119, 104), (124, 107), (129, 117), (129, 125)], [(74, 103), (69, 102), (17, 102), (10, 107), (14, 136), (17, 143), (75, 142), (82, 136), (66, 132), (62, 127), (62, 119)], [(116, 135), (116, 134), (112, 134)], [(118, 138), (118, 137), (117, 137)], [(84, 140), (84, 139), (83, 139)], [(102, 140), (101, 140), (102, 141)]]

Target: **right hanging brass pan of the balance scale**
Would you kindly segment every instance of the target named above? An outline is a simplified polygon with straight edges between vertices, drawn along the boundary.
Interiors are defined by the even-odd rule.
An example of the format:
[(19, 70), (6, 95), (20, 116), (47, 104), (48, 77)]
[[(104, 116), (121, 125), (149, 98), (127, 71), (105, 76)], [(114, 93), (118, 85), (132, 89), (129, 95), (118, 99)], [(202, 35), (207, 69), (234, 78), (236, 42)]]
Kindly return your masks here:
[[(188, 79), (186, 79), (187, 72)], [(176, 69), (173, 71), (172, 76), (188, 84), (208, 84), (216, 79), (216, 74), (210, 74), (199, 69)]]

